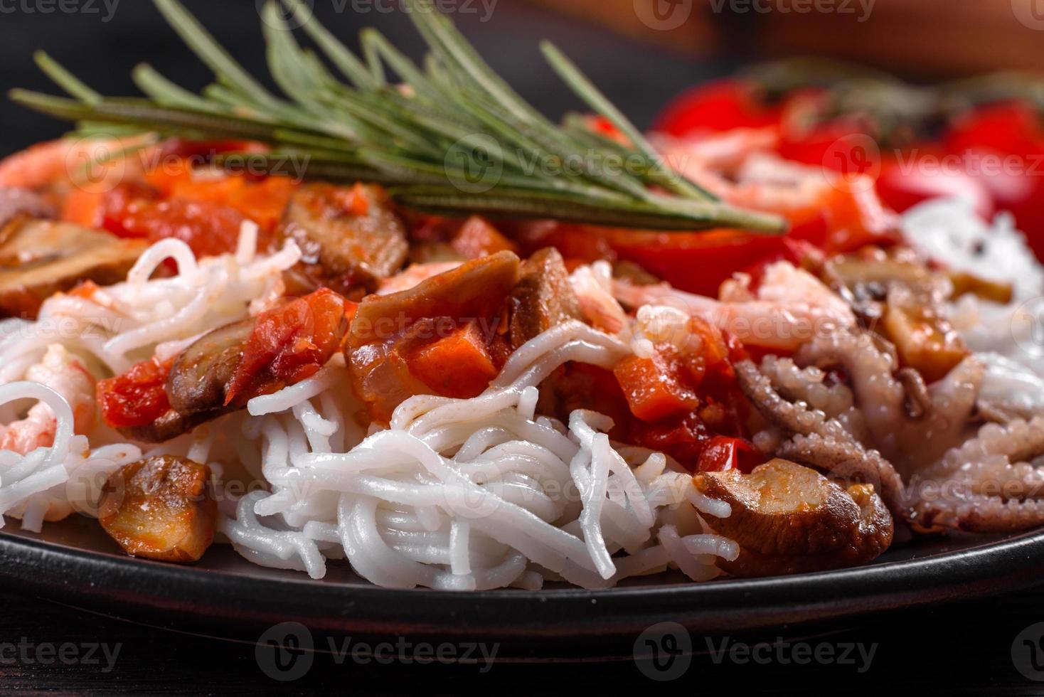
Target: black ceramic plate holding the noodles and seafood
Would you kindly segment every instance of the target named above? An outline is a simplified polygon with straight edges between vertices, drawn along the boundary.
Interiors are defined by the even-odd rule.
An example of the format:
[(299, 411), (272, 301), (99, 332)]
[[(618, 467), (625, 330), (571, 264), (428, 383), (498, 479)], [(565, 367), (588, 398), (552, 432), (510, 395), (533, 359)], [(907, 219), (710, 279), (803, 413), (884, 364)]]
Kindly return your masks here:
[(545, 657), (590, 655), (592, 642), (619, 646), (664, 620), (704, 634), (804, 625), (1025, 587), (1042, 572), (1038, 531), (924, 540), (867, 567), (801, 576), (696, 584), (664, 575), (606, 591), (459, 594), (379, 588), (342, 562), (312, 581), (227, 547), (195, 567), (134, 559), (78, 518), (42, 535), (13, 525), (0, 532), (3, 582), (99, 612), (233, 638), (298, 621), (331, 635), (489, 639)]

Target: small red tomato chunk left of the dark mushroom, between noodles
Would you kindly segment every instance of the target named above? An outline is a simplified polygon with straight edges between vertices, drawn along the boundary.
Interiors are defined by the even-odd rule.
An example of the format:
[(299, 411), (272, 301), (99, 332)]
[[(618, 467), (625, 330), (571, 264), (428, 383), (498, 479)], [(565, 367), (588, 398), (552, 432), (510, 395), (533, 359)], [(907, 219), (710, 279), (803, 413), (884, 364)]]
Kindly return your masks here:
[(167, 413), (166, 385), (172, 364), (173, 360), (161, 363), (151, 358), (100, 381), (96, 393), (105, 424), (117, 429), (147, 426)]

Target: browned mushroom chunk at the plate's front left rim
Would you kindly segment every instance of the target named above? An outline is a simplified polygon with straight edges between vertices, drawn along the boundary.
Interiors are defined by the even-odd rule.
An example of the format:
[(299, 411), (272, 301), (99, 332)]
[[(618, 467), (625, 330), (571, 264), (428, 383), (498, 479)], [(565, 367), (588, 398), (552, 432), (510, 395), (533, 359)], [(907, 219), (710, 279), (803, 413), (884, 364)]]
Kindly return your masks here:
[(198, 561), (217, 525), (210, 467), (170, 455), (121, 467), (102, 488), (98, 521), (132, 556)]

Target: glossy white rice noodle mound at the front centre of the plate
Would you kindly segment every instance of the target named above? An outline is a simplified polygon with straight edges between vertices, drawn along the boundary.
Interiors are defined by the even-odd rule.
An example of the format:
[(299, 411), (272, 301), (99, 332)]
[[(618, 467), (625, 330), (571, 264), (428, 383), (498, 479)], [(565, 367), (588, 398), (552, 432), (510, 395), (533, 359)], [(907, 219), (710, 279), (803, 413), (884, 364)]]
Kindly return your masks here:
[[(656, 547), (658, 511), (695, 501), (720, 513), (720, 505), (673, 496), (680, 477), (682, 487), (692, 487), (687, 475), (665, 472), (662, 455), (647, 456), (639, 479), (609, 441), (604, 416), (577, 411), (568, 428), (535, 420), (536, 385), (577, 352), (608, 366), (627, 348), (579, 322), (563, 325), (520, 347), (483, 394), (407, 400), (389, 429), (348, 452), (310, 447), (337, 435), (325, 408), (309, 403), (314, 385), (259, 398), (251, 412), (268, 414), (260, 436), (272, 490), (252, 500), (250, 514), (240, 506), (223, 519), (221, 530), (255, 562), (322, 575), (315, 554), (329, 555), (331, 538), (309, 539), (306, 526), (286, 514), (316, 504), (312, 512), (325, 518), (307, 525), (336, 529), (355, 571), (390, 587), (533, 586), (541, 582), (533, 569), (606, 586), (677, 563), (646, 552)], [(316, 385), (327, 380), (316, 378)], [(277, 406), (283, 412), (275, 413)], [(307, 436), (296, 446), (295, 432)], [(695, 542), (703, 530), (693, 532), (689, 544), (703, 549)], [(641, 561), (617, 556), (623, 550)], [(698, 575), (711, 572), (701, 567)]]

